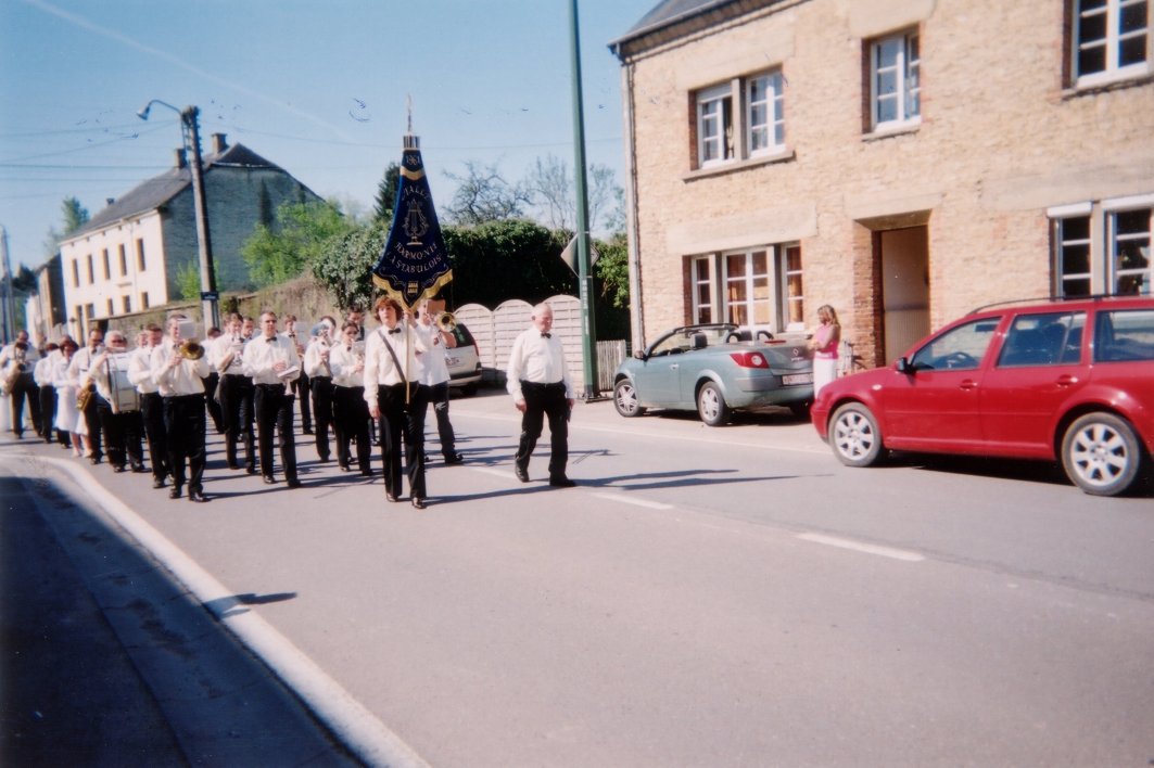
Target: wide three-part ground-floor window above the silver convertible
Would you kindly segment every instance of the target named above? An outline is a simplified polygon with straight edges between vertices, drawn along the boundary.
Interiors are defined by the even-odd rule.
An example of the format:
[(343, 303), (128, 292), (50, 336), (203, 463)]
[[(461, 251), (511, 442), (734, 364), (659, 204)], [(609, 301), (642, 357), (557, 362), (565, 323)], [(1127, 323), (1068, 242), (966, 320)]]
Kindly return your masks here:
[(687, 261), (692, 323), (786, 330), (803, 322), (801, 247), (769, 246)]

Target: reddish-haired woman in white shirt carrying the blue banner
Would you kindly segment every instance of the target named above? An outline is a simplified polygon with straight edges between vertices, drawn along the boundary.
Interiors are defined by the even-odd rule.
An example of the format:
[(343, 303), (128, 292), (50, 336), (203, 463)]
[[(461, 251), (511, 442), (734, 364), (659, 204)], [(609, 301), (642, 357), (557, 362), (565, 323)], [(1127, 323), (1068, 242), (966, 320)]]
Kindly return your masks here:
[(402, 316), (396, 300), (382, 296), (374, 309), (381, 326), (365, 341), (365, 401), (373, 419), (380, 420), (384, 495), (390, 502), (396, 502), (400, 494), (403, 438), (411, 502), (418, 510), (424, 510), (425, 430), (424, 419), (418, 414), (428, 406), (421, 392), (424, 368), (418, 355), (426, 348), (409, 325), (409, 314)]

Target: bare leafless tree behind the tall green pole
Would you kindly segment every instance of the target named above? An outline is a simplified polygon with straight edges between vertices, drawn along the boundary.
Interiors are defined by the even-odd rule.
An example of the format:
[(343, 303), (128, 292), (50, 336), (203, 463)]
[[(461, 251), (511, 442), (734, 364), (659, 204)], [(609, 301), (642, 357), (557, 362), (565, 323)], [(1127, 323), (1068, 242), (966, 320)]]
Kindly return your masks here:
[[(529, 171), (525, 188), (538, 211), (537, 218), (554, 229), (572, 232), (577, 228), (577, 185), (564, 160), (554, 155), (544, 160), (537, 158)], [(586, 197), (590, 232), (597, 231), (597, 223), (609, 205), (614, 202), (620, 204), (619, 190), (613, 168), (597, 164), (589, 166)], [(612, 220), (613, 213), (609, 212), (609, 216)]]

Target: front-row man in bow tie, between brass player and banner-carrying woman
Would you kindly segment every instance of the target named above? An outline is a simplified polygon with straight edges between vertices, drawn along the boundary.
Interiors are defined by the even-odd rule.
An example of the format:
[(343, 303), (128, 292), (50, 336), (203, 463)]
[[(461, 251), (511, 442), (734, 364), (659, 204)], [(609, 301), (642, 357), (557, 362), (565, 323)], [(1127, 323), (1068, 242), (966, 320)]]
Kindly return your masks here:
[(300, 376), (300, 355), (295, 342), (277, 333), (277, 315), (261, 314), (261, 336), (245, 346), (245, 374), (256, 387), (256, 439), (260, 444), (261, 474), (265, 483), (275, 483), (272, 474), (272, 430), (277, 432), (280, 465), (288, 488), (300, 488), (297, 477), (297, 444), (292, 428), (293, 396), (287, 383)]

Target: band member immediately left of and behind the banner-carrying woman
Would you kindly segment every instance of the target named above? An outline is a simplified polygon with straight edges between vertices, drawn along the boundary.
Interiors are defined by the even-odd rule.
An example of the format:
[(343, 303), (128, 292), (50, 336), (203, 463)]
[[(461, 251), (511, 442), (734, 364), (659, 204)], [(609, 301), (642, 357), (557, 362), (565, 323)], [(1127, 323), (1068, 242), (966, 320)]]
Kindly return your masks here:
[[(332, 370), (332, 432), (337, 443), (337, 464), (349, 472), (349, 442), (357, 442), (357, 465), (365, 477), (373, 476), (373, 446), (368, 438), (368, 405), (365, 402), (365, 342), (359, 341), (360, 326), (345, 323), (342, 339), (329, 349)], [(313, 379), (316, 381), (315, 378)]]

